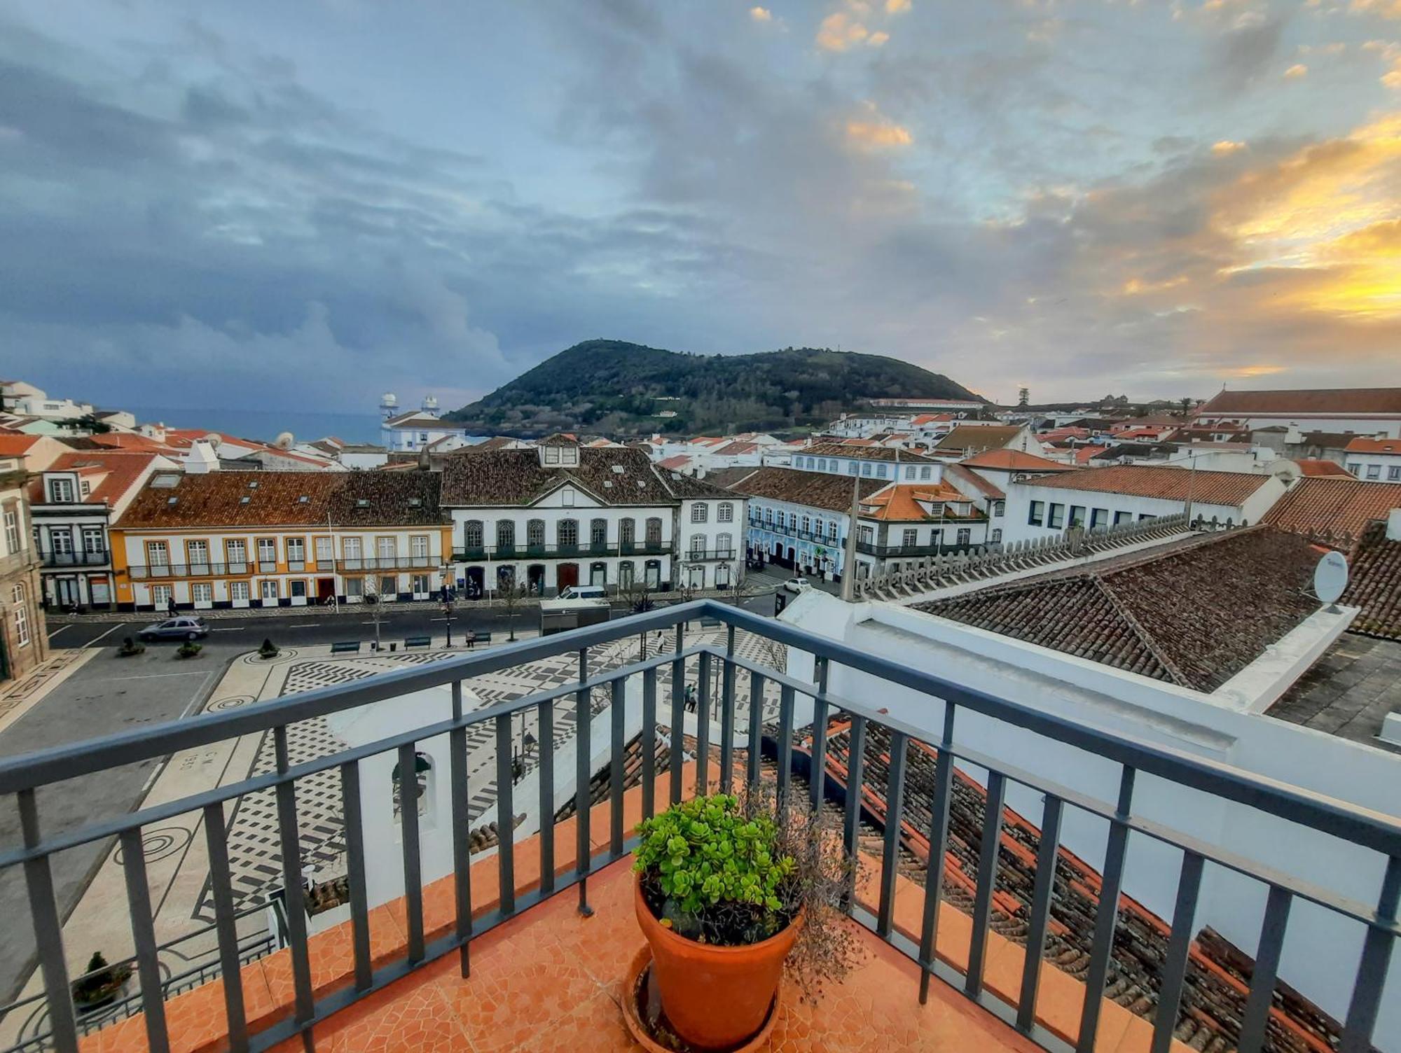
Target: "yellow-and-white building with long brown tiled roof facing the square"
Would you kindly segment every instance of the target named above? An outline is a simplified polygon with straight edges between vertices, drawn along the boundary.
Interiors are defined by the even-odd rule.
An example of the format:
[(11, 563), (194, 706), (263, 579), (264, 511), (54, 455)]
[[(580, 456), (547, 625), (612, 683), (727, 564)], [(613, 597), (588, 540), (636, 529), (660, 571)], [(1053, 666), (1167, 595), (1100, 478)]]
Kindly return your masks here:
[(123, 611), (432, 599), (453, 550), (429, 472), (158, 472), (111, 534)]

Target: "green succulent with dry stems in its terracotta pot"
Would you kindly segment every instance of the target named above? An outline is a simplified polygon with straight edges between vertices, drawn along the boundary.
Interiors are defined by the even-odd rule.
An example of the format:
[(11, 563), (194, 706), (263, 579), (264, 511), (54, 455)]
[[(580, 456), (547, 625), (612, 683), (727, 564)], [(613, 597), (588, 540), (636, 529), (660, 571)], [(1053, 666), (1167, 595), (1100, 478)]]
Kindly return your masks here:
[(810, 998), (845, 976), (856, 942), (839, 905), (855, 868), (806, 801), (778, 807), (769, 787), (698, 797), (637, 832), (637, 924), (681, 1039), (743, 1045), (769, 1018), (785, 966)]

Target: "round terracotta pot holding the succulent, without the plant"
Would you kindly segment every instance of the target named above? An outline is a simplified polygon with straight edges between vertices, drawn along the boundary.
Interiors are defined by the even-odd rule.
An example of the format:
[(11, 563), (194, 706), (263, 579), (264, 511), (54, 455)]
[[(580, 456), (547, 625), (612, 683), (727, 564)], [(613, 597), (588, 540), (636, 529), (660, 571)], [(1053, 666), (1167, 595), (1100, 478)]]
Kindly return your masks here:
[(633, 906), (651, 945), (661, 1008), (681, 1038), (700, 1049), (733, 1049), (764, 1026), (801, 914), (762, 942), (712, 947), (664, 927), (647, 906), (640, 879)]

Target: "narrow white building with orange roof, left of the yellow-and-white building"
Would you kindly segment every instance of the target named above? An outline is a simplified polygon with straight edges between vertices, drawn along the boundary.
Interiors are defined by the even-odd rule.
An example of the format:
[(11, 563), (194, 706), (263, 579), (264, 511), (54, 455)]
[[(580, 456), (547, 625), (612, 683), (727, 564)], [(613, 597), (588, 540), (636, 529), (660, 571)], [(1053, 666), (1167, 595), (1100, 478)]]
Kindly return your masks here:
[(175, 468), (172, 459), (158, 454), (73, 451), (29, 480), (46, 606), (66, 611), (116, 605), (108, 528), (151, 473)]

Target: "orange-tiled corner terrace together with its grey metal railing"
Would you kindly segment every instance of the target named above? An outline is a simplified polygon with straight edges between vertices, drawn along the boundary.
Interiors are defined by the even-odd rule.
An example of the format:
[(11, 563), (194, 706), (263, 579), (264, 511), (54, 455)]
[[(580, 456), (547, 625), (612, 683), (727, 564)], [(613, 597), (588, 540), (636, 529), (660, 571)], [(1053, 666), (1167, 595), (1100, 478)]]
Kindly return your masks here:
[[(674, 651), (604, 669), (588, 662), (590, 648), (671, 630), (688, 619), (716, 623), (726, 641), (688, 647), (677, 633)], [(786, 647), (790, 657), (810, 655), (811, 679), (790, 676), (796, 665), (779, 669), (740, 654), (734, 646), (740, 630)], [(573, 683), (479, 709), (465, 704), (465, 679), (573, 654), (580, 669)], [(929, 720), (908, 724), (888, 716), (878, 700), (838, 697), (828, 690), (828, 674), (838, 667), (920, 692), (929, 699)], [(682, 685), (689, 682), (698, 688), (693, 713), (684, 704)], [(412, 709), (412, 700), (444, 688), (451, 704), (443, 718), (415, 723), (422, 711)], [(772, 696), (771, 711), (765, 700)], [(409, 727), (310, 762), (290, 762), (289, 730), (298, 723), (357, 707), (380, 713), (373, 703), (385, 700), (394, 700), (394, 711), (403, 713)], [(570, 709), (572, 732), (560, 737), (556, 721)], [(1115, 766), (1114, 800), (968, 748), (958, 728), (974, 714), (1044, 737), (1048, 749)], [(525, 717), (545, 744), (528, 772), (513, 769), (511, 749), (513, 718)], [(46, 835), (42, 828), (42, 787), (49, 783), (259, 732), (270, 734), (277, 746), (272, 772), (81, 830)], [(684, 748), (661, 751), (661, 739)], [(434, 826), (432, 811), (420, 816), (416, 808), (396, 808), (396, 829), (367, 840), (374, 815), (366, 802), (374, 805), (375, 798), (361, 794), (361, 773), (385, 759), (399, 772), (420, 770), (417, 751), (434, 742), (447, 744), (447, 772), (434, 793), (443, 794), (450, 821)], [(628, 756), (636, 760), (623, 763)], [(604, 772), (607, 794), (595, 802)], [(481, 816), (471, 816), (468, 791), (492, 773), (496, 815), (511, 819), (502, 828), (514, 835), (474, 851), (472, 822)], [(345, 822), (349, 902), (340, 909), (347, 917), (331, 926), (319, 926), (307, 909), (298, 844), (298, 797), (317, 777), (332, 779)], [(1360, 1053), (1373, 1040), (1394, 1047), (1395, 1036), (1379, 1031), (1377, 1021), (1387, 1011), (1387, 973), (1394, 972), (1391, 952), (1401, 933), (1395, 818), (1075, 724), (960, 686), (939, 671), (712, 601), (0, 762), (0, 794), (17, 795), (24, 821), (24, 846), (0, 846), (0, 867), (24, 870), (46, 1008), (43, 1026), (20, 1047), (62, 1053), (628, 1049), (618, 984), (640, 945), (628, 902), (632, 829), (668, 801), (761, 779), (772, 779), (782, 800), (808, 795), (841, 815), (846, 851), (860, 864), (849, 924), (859, 928), (864, 948), (862, 965), (815, 1005), (785, 1003), (771, 1049), (1166, 1053), (1234, 1046)], [(1299, 837), (1327, 835), (1339, 851), (1351, 853), (1349, 860), (1362, 860), (1356, 870), (1376, 875), (1372, 899), (1360, 902), (1262, 867), (1240, 846), (1209, 843), (1164, 825), (1136, 804), (1139, 791), (1163, 784), (1220, 807), (1250, 808), (1262, 830), (1283, 825)], [(1023, 791), (1040, 808), (1034, 828), (1006, 807), (1009, 794), (1026, 800)], [(240, 944), (247, 917), (237, 916), (230, 888), (224, 808), (258, 793), (276, 798), (283, 893), (270, 924), (282, 947), (249, 959)], [(570, 797), (573, 812), (556, 818)], [(167, 948), (151, 926), (149, 867), (156, 863), (143, 830), (192, 811), (205, 816), (214, 968), (193, 990), (175, 994), (167, 984)], [(525, 819), (516, 822), (521, 815)], [(1066, 870), (1062, 836), (1076, 826), (1083, 830), (1084, 822), (1103, 828), (1103, 849), (1093, 865)], [(1016, 830), (1034, 830), (1034, 842), (1009, 846)], [(88, 1026), (70, 994), (87, 948), (63, 931), (52, 858), (111, 839), (122, 849), (140, 1012)], [(446, 870), (434, 872), (440, 846), (450, 851)], [(1133, 913), (1126, 895), (1143, 846), (1166, 849), (1177, 861), (1171, 919), (1154, 920), (1159, 940), (1149, 952), (1136, 945), (1135, 927), (1145, 924), (1145, 916)], [(955, 864), (965, 895), (947, 895), (944, 881), (920, 881), (908, 865), (920, 851), (926, 863)], [(1020, 851), (1014, 868), (1006, 861), (1009, 851)], [(367, 875), (385, 864), (399, 875), (399, 892), (371, 902)], [(1202, 968), (1196, 934), (1209, 893), (1223, 878), (1251, 889), (1241, 903), (1258, 902), (1262, 920), (1258, 944), (1247, 949), (1244, 979), (1234, 979), (1231, 1010), (1208, 1033), (1196, 1021), (1202, 1005), (1195, 991)], [(1020, 896), (1007, 895), (1009, 879), (1020, 882)], [(1061, 954), (1068, 903), (1080, 912), (1077, 924), (1084, 930), (1070, 962)], [(1297, 1026), (1300, 1000), (1278, 976), (1292, 907), (1309, 938), (1318, 941), (1317, 954), (1352, 977), (1338, 1019)], [(1320, 938), (1335, 931), (1320, 928), (1320, 916), (1348, 938)], [(1140, 987), (1140, 997), (1128, 1005), (1119, 1000), (1125, 944), (1138, 947), (1132, 958)], [(1184, 1035), (1194, 1036), (1192, 1046), (1180, 1040)], [(1196, 1035), (1217, 1046), (1198, 1045)]]

